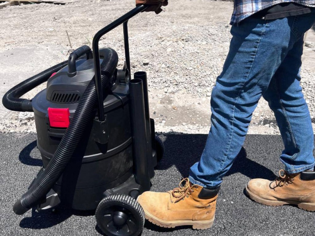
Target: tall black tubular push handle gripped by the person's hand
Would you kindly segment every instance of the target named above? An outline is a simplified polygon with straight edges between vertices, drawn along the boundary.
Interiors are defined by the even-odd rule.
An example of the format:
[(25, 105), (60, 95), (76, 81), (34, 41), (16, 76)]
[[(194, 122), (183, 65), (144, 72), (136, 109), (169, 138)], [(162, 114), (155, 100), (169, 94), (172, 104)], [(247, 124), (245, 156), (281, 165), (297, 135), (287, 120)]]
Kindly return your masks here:
[[(95, 71), (95, 88), (96, 88), (96, 93), (97, 93), (97, 97), (98, 97), (98, 118), (99, 121), (105, 121), (105, 116), (104, 116), (104, 107), (103, 107), (103, 91), (102, 91), (102, 86), (101, 86), (101, 73), (100, 73), (100, 52), (99, 52), (99, 41), (100, 38), (105, 35), (106, 33), (108, 33), (109, 31), (115, 29), (118, 25), (121, 25), (125, 22), (128, 22), (129, 19), (131, 19), (132, 17), (134, 17), (136, 14), (144, 11), (148, 6), (145, 5), (139, 5), (136, 8), (132, 9), (131, 11), (129, 11), (128, 13), (124, 14), (123, 16), (121, 16), (120, 18), (118, 18), (117, 20), (115, 20), (114, 22), (112, 22), (111, 24), (107, 25), (106, 27), (104, 27), (103, 29), (101, 29), (100, 31), (98, 31), (94, 38), (93, 38), (93, 59), (94, 59), (94, 71)], [(124, 24), (124, 28), (125, 30), (127, 29), (127, 23)], [(124, 31), (124, 33), (126, 33)], [(125, 45), (126, 45), (126, 37), (124, 37), (125, 39)], [(127, 37), (128, 40), (128, 37)], [(128, 43), (127, 43), (128, 45)], [(129, 48), (128, 48), (129, 49)], [(126, 51), (126, 55), (127, 55), (127, 50), (125, 48)], [(128, 55), (126, 56), (129, 58), (129, 50), (128, 50)], [(130, 63), (130, 62), (129, 62)]]

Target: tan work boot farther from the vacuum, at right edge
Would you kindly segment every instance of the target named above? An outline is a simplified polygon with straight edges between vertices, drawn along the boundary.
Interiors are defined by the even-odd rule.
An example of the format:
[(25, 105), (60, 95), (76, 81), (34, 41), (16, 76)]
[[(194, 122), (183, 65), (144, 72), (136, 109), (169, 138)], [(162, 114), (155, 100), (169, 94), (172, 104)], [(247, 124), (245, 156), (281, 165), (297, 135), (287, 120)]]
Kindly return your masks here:
[(279, 171), (275, 181), (252, 179), (246, 186), (247, 195), (267, 206), (294, 204), (307, 211), (315, 211), (315, 172), (288, 174)]

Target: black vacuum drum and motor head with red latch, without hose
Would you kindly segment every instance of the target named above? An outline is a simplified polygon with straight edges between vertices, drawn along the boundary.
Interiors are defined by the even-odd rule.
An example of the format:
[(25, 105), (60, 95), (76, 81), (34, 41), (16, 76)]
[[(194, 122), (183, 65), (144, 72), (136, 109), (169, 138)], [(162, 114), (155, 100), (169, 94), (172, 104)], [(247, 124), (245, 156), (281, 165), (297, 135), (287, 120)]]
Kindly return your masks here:
[[(100, 63), (102, 59), (100, 59)], [(32, 100), (37, 131), (37, 147), (45, 168), (71, 122), (80, 97), (94, 76), (93, 59), (79, 59), (76, 73), (68, 66), (49, 78), (47, 88)], [(128, 70), (117, 71), (104, 100), (106, 122), (103, 141), (99, 123), (92, 120), (75, 155), (54, 185), (61, 202), (77, 210), (94, 210), (106, 189), (115, 188), (133, 177), (132, 132)], [(97, 110), (95, 109), (95, 115)], [(130, 193), (129, 193), (130, 195)]]

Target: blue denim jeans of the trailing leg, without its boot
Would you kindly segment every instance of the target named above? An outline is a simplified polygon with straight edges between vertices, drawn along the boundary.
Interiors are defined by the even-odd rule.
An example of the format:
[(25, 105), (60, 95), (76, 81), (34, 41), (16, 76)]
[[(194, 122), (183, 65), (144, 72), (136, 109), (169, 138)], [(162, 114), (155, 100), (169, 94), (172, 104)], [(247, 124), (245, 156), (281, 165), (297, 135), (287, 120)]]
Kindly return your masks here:
[(303, 37), (289, 51), (263, 97), (274, 112), (284, 143), (280, 156), (289, 174), (314, 167), (314, 133), (300, 86)]

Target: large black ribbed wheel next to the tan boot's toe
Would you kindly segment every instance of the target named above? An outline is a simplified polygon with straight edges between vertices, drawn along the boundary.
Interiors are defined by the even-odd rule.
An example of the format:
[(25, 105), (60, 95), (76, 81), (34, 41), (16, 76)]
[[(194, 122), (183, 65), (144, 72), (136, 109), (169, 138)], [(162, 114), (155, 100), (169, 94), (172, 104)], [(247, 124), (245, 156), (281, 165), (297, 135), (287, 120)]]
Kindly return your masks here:
[(138, 201), (127, 195), (104, 198), (95, 212), (96, 222), (107, 236), (138, 236), (145, 215)]

